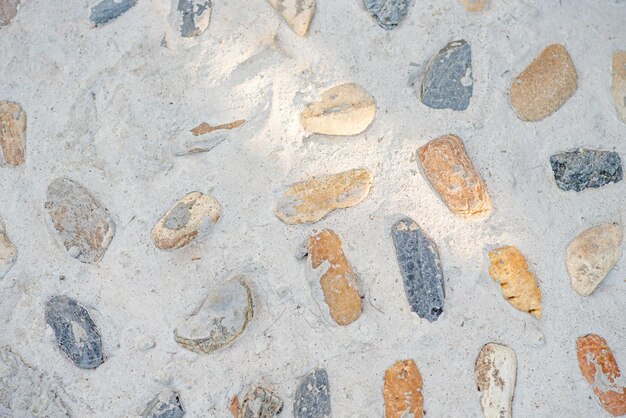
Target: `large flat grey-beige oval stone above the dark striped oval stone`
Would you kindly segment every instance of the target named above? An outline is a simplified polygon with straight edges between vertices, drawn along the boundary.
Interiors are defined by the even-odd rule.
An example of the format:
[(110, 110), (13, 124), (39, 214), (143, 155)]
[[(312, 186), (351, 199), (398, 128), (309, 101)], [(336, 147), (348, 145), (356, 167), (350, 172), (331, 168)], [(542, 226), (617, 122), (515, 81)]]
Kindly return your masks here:
[(59, 178), (48, 186), (48, 225), (67, 254), (82, 263), (95, 264), (104, 255), (115, 223), (107, 210), (77, 182)]

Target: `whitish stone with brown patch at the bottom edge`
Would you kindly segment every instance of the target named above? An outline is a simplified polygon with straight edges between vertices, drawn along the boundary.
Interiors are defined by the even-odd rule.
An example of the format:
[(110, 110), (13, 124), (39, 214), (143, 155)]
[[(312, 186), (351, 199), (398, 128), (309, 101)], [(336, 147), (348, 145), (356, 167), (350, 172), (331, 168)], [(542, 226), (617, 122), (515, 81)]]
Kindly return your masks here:
[(476, 358), (476, 384), (485, 418), (511, 418), (517, 356), (511, 348), (485, 344)]

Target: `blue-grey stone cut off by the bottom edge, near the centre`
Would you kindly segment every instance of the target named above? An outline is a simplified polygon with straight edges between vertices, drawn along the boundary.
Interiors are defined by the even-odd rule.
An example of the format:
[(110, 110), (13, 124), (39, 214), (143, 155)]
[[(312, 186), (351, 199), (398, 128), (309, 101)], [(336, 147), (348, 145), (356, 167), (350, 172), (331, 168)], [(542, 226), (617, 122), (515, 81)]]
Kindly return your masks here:
[(324, 369), (313, 369), (300, 379), (293, 404), (296, 418), (329, 418), (330, 390)]

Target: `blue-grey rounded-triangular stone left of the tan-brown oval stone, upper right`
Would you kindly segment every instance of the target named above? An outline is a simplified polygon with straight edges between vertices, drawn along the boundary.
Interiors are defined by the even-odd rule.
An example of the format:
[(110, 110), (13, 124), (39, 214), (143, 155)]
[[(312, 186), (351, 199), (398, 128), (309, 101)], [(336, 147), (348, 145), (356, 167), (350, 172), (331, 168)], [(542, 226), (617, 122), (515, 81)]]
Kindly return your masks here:
[(433, 109), (465, 110), (473, 92), (472, 49), (450, 42), (435, 55), (422, 82), (422, 103)]

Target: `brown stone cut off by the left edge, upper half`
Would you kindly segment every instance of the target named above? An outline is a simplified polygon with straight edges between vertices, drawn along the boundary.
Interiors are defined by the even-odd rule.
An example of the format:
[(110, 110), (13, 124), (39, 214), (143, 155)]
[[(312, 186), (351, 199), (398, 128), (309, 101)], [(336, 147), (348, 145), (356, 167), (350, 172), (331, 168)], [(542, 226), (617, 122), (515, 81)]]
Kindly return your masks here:
[(0, 147), (6, 164), (24, 164), (26, 113), (17, 103), (0, 100)]

